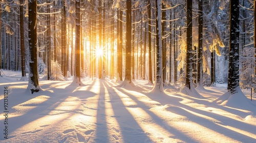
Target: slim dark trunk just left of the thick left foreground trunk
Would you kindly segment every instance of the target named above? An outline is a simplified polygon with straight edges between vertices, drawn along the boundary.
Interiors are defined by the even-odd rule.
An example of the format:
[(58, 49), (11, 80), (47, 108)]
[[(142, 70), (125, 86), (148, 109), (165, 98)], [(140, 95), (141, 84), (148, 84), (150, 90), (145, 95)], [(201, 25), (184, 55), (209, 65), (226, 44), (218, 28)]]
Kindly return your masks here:
[[(26, 67), (25, 67), (26, 64), (25, 64), (25, 43), (24, 43), (23, 0), (20, 0), (19, 3), (20, 3), (20, 5), (19, 5), (20, 55), (21, 55), (21, 59), (22, 59), (21, 60), (21, 64), (22, 64), (22, 79), (20, 79), (20, 80), (26, 80), (27, 77), (26, 77)], [(0, 13), (0, 15), (1, 15), (1, 13)], [(1, 33), (0, 33), (0, 35), (1, 35)], [(1, 53), (1, 51), (0, 51), (0, 53)], [(0, 62), (1, 62), (1, 59), (0, 59)], [(0, 68), (1, 68), (1, 66), (0, 66)]]

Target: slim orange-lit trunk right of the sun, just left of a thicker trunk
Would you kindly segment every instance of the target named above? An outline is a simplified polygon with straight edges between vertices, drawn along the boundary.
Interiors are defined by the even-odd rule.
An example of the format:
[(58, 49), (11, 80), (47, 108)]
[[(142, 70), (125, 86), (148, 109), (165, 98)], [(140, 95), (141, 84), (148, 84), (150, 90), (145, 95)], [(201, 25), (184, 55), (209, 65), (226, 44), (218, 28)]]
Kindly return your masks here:
[(117, 48), (117, 73), (120, 81), (122, 81), (123, 77), (123, 25), (122, 25), (122, 16), (123, 12), (119, 10), (119, 48)]

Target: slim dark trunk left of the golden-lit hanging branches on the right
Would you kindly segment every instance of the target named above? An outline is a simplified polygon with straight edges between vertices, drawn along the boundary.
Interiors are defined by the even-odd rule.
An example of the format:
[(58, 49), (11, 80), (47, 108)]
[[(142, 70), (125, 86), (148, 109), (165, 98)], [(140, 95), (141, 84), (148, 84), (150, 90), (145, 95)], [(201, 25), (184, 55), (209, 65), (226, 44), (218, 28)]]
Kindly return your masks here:
[(197, 82), (203, 86), (203, 0), (198, 0), (198, 64)]

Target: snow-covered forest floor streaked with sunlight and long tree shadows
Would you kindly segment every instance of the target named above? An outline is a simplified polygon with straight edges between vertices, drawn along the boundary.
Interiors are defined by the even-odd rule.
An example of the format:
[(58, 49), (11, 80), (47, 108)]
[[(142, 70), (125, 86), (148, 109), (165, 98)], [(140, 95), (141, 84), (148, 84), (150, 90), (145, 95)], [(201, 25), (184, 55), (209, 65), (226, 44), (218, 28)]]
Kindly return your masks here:
[[(241, 107), (214, 101), (226, 85), (197, 89), (204, 99), (176, 90), (153, 94), (153, 85), (118, 87), (109, 79), (40, 81), (45, 91), (31, 94), (20, 73), (0, 77), (0, 142), (255, 142), (256, 97)], [(8, 139), (4, 87), (8, 87)], [(244, 91), (249, 95), (247, 91)], [(249, 99), (249, 97), (248, 97)], [(229, 103), (230, 105), (230, 103)]]

